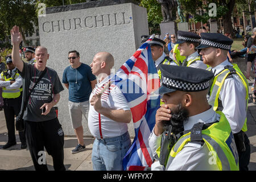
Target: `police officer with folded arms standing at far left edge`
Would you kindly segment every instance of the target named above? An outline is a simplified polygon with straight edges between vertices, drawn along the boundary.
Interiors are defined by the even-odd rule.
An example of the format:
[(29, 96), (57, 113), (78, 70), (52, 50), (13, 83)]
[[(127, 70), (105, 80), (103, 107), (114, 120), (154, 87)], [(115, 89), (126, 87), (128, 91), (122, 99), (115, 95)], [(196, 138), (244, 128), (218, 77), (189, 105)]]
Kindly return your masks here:
[[(8, 142), (3, 146), (3, 149), (16, 144), (14, 117), (19, 114), (22, 104), (22, 77), (19, 75), (10, 56), (7, 57), (6, 64), (7, 69), (0, 76), (0, 86), (3, 88), (3, 110), (8, 130)], [(27, 148), (24, 131), (19, 132), (19, 139), (21, 149)]]

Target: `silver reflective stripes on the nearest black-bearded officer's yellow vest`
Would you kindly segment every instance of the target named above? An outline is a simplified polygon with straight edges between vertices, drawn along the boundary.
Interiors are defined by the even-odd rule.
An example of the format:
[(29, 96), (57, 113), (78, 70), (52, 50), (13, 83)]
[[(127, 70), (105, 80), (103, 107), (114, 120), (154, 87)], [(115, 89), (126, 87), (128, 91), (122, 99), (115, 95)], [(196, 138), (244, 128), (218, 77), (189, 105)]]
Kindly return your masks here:
[[(186, 140), (188, 138), (190, 138), (190, 135), (187, 135), (187, 136), (177, 140), (175, 146), (173, 147), (174, 152), (177, 152), (181, 143), (183, 143), (184, 140)], [(221, 161), (222, 171), (230, 171), (229, 160), (228, 160), (228, 158), (226, 158), (226, 155), (225, 155), (224, 151), (222, 150), (221, 146), (214, 139), (210, 138), (208, 135), (203, 134), (202, 138), (207, 140), (207, 142), (209, 142), (209, 144), (213, 147), (214, 151), (216, 152), (216, 155), (218, 156), (218, 158)], [(210, 158), (210, 155), (209, 155), (209, 158)], [(172, 163), (172, 160), (174, 160), (174, 158), (172, 156), (170, 156), (169, 160), (167, 162), (166, 168), (168, 168), (170, 166), (170, 164)], [(216, 164), (217, 164), (217, 162), (216, 162)]]

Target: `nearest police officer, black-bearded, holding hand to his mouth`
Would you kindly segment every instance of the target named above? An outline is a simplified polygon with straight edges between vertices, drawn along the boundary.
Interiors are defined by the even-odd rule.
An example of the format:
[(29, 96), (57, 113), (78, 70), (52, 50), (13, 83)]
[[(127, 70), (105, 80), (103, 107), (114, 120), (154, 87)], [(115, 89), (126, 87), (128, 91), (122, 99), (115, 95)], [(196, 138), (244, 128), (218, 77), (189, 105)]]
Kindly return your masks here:
[[(208, 104), (203, 69), (160, 65), (164, 104), (149, 138), (153, 170), (238, 170), (238, 154), (225, 115)], [(168, 139), (170, 137), (170, 139)], [(168, 144), (171, 144), (168, 147)]]

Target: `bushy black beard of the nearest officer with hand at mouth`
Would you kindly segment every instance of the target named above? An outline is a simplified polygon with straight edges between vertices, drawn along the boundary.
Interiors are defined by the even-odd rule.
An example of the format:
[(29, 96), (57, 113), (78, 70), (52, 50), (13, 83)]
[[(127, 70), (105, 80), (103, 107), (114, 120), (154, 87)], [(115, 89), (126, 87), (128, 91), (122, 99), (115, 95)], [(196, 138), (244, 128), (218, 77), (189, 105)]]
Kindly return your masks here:
[(172, 125), (174, 134), (184, 131), (183, 122), (188, 119), (188, 109), (179, 104), (175, 109), (171, 110), (171, 115), (170, 121), (163, 121), (164, 130), (168, 130), (169, 126)]

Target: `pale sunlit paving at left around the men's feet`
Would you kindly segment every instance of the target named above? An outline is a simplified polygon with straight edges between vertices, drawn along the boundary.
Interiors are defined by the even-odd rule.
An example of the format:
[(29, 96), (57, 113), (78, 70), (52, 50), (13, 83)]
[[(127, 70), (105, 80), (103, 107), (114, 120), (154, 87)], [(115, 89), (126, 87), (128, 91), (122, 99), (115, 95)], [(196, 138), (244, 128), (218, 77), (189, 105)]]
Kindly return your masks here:
[[(20, 140), (16, 131), (17, 144), (13, 147), (2, 149), (7, 142), (7, 129), (5, 115), (0, 111), (0, 170), (33, 171), (34, 166), (28, 149), (20, 150)], [(71, 150), (77, 145), (77, 139), (65, 137), (64, 142), (64, 164), (70, 171), (92, 171), (92, 144), (93, 138), (84, 138), (86, 150), (77, 154), (71, 154)], [(46, 155), (47, 166), (53, 170), (52, 158)]]

